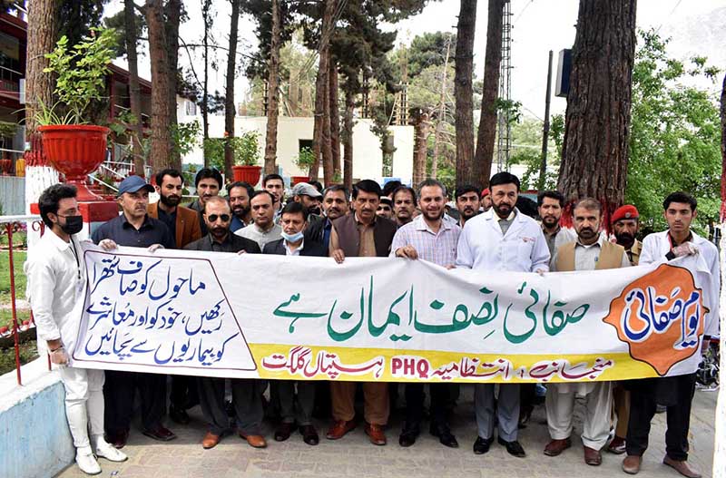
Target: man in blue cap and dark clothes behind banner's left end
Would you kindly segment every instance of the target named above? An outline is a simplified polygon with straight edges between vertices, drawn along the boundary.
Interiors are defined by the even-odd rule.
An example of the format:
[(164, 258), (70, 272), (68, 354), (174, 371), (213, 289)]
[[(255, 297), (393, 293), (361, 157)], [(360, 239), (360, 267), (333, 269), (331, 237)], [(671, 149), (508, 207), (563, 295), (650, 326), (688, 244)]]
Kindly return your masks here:
[[(153, 190), (139, 176), (129, 176), (121, 182), (118, 203), (123, 213), (103, 223), (93, 232), (93, 242), (105, 250), (118, 246), (173, 249), (174, 238), (169, 228), (159, 219), (148, 216), (149, 193)], [(133, 396), (139, 389), (142, 399), (143, 434), (155, 440), (176, 438), (162, 425), (166, 408), (166, 376), (138, 372), (106, 371), (103, 386), (105, 399), (104, 427), (109, 443), (123, 448), (129, 436), (133, 413)]]

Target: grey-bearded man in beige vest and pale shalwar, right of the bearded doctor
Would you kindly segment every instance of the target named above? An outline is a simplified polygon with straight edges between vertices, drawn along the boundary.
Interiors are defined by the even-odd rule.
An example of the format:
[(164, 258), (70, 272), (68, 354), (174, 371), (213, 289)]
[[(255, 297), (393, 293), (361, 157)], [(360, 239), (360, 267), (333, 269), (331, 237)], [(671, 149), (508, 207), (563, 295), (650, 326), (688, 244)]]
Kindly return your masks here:
[[(577, 240), (568, 242), (555, 251), (553, 271), (630, 267), (630, 259), (625, 254), (625, 249), (600, 234), (601, 208), (600, 202), (592, 198), (577, 202), (573, 212)], [(585, 396), (582, 435), (584, 463), (597, 466), (603, 463), (600, 450), (607, 442), (610, 432), (612, 382), (547, 385), (545, 404), (552, 441), (544, 447), (544, 454), (557, 456), (572, 446), (570, 435), (573, 432), (575, 394)]]

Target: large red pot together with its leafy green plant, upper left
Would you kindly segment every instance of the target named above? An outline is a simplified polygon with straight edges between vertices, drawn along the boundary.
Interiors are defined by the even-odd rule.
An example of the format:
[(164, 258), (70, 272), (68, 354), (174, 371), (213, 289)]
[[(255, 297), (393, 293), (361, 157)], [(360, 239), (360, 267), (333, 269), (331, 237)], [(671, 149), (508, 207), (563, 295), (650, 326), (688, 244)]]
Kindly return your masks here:
[(78, 200), (101, 200), (88, 190), (86, 176), (105, 159), (110, 130), (89, 124), (89, 110), (102, 100), (115, 44), (113, 29), (92, 28), (91, 36), (73, 47), (62, 36), (54, 51), (45, 54), (49, 65), (44, 73), (56, 77), (57, 102), (50, 106), (39, 102), (35, 122), (40, 125), (45, 157), (78, 188)]

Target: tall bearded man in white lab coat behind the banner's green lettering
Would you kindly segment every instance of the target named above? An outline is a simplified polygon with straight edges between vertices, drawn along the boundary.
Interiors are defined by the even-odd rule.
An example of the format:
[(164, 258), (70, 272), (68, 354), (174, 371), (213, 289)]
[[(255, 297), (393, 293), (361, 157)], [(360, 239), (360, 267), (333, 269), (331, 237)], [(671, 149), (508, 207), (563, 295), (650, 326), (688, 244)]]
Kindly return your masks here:
[[(466, 221), (456, 249), (456, 267), (487, 272), (519, 271), (543, 273), (549, 270), (550, 251), (542, 228), (515, 208), (519, 179), (498, 172), (489, 181), (493, 207)], [(478, 437), (475, 454), (486, 454), (494, 439), (494, 384), (476, 384), (475, 409)], [(525, 450), (517, 441), (519, 385), (501, 384), (496, 403), (499, 444), (517, 457)]]

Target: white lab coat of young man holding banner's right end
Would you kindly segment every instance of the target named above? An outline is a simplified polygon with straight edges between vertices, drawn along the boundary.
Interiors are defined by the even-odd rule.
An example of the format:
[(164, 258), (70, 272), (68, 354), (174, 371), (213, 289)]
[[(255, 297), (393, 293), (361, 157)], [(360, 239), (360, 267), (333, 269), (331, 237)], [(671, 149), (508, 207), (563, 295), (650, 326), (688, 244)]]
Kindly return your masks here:
[[(703, 268), (711, 272), (711, 284), (709, 290), (704, 294), (703, 302), (709, 308), (706, 314), (703, 333), (707, 336), (719, 335), (719, 294), (721, 291), (721, 269), (719, 268), (719, 249), (716, 249), (708, 239), (692, 232), (692, 244), (698, 249), (698, 255), (703, 260)], [(643, 239), (641, 259), (638, 262), (643, 266), (646, 264), (658, 264), (668, 262), (665, 255), (672, 249), (671, 241), (668, 239), (668, 231), (655, 232)]]

